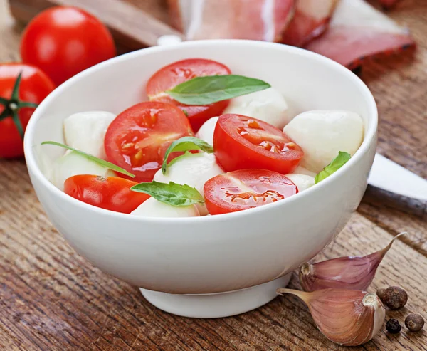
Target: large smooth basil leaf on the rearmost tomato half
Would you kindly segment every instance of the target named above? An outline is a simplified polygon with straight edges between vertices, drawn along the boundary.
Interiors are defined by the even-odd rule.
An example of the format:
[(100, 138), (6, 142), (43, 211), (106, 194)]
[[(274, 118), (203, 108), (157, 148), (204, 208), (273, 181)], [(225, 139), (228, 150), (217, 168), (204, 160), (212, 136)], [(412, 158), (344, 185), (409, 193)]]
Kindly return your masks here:
[(209, 105), (270, 88), (263, 80), (243, 75), (206, 75), (187, 80), (166, 93), (186, 105)]

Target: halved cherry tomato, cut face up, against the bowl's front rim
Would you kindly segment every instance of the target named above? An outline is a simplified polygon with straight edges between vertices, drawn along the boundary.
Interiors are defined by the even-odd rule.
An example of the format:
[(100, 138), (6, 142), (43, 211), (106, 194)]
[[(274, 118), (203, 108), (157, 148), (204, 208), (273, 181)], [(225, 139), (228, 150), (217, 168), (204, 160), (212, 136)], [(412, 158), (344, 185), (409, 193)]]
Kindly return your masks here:
[(297, 194), (292, 181), (266, 169), (241, 169), (219, 174), (204, 184), (209, 214), (226, 214), (272, 204)]

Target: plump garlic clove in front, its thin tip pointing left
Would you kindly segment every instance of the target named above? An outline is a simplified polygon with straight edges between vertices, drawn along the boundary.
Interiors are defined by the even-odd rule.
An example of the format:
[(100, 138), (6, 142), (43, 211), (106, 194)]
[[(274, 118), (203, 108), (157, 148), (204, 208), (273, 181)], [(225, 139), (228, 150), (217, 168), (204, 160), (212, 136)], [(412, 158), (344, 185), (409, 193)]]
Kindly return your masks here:
[(324, 289), (306, 293), (278, 289), (278, 293), (290, 293), (303, 300), (320, 332), (339, 345), (357, 346), (368, 342), (386, 319), (381, 300), (366, 291)]

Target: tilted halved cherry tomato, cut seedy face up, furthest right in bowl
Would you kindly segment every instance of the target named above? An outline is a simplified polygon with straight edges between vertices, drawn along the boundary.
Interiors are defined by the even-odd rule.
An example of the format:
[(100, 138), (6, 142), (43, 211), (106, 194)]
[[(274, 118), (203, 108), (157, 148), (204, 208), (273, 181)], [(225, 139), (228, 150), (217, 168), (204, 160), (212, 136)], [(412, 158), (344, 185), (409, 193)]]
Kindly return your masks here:
[(288, 135), (267, 122), (243, 115), (222, 115), (216, 123), (214, 150), (227, 172), (259, 168), (288, 174), (304, 152)]

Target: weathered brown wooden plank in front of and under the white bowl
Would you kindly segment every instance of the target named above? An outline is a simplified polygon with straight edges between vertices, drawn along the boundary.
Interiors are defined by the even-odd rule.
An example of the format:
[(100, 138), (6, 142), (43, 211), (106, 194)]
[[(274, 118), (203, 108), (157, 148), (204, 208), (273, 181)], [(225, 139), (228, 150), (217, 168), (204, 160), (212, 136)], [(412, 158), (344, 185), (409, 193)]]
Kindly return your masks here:
[[(43, 214), (22, 162), (0, 162), (0, 194), (0, 266), (6, 268), (1, 322), (8, 326), (0, 330), (0, 341), (19, 340), (24, 350), (59, 350), (56, 345), (70, 350), (344, 350), (325, 340), (305, 305), (290, 296), (231, 318), (195, 320), (163, 313), (137, 288), (103, 274), (65, 243)], [(316, 259), (371, 253), (390, 239), (354, 214)], [(403, 320), (406, 313), (417, 312), (427, 318), (426, 270), (427, 258), (402, 241), (386, 256), (373, 288), (399, 284), (410, 295), (406, 309), (394, 317)], [(299, 287), (295, 277), (291, 286)], [(425, 333), (402, 332), (396, 338), (382, 330), (354, 350), (424, 350), (426, 340)]]

